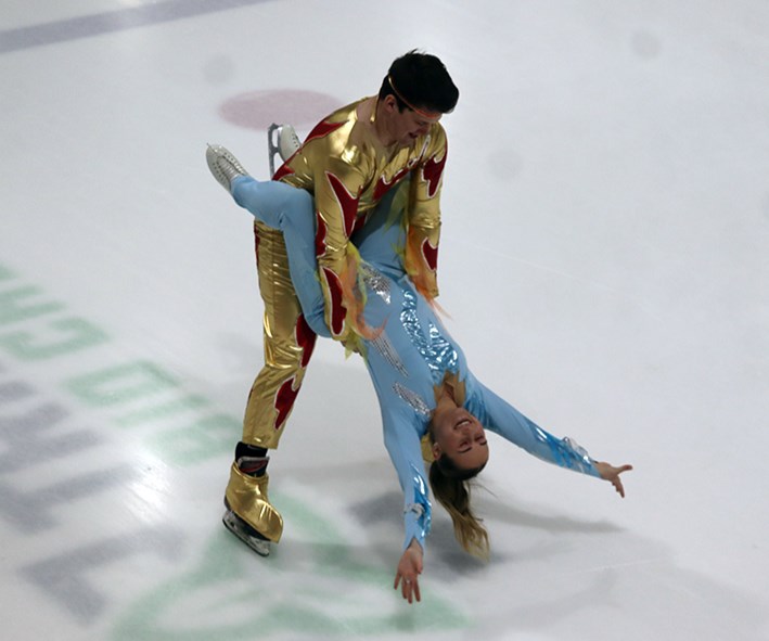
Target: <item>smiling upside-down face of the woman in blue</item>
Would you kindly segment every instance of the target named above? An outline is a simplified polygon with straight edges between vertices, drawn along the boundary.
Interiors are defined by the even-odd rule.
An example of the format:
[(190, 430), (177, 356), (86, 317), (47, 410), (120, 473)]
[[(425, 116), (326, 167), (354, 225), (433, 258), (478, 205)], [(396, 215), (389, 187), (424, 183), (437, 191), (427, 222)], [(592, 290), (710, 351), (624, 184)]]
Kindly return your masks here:
[(438, 407), (433, 415), (433, 456), (447, 454), (459, 467), (485, 465), (489, 458), (486, 433), (480, 422), (461, 407)]

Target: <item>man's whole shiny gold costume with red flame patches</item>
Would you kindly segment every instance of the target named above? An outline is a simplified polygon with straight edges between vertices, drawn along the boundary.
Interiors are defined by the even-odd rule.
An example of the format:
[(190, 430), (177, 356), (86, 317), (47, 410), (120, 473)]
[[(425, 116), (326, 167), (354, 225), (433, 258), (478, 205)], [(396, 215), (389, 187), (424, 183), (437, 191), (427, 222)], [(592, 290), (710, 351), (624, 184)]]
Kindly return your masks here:
[[(427, 133), (418, 137), (410, 146), (384, 148), (371, 127), (358, 118), (357, 108), (364, 100), (368, 99), (334, 112), (317, 125), (299, 151), (273, 177), (313, 196), (316, 255), (325, 299), (325, 323), (333, 338), (353, 348), (357, 336), (366, 335), (368, 329), (360, 320), (363, 302), (357, 298), (355, 286), (359, 257), (350, 236), (366, 225), (369, 213), (383, 196), (408, 176), (411, 180), (403, 221), (405, 265), (414, 285), (428, 300), (438, 295), (439, 196), (447, 157), (446, 133), (438, 123), (431, 125)], [(302, 316), (281, 232), (257, 222), (255, 235), (259, 290), (265, 303), (265, 367), (248, 396), (242, 440), (277, 448), (299, 392), (316, 334)], [(238, 515), (257, 530), (266, 525), (261, 491), (253, 491), (239, 474), (231, 476), (227, 490), (228, 497), (239, 497), (233, 505)], [(271, 521), (269, 529), (269, 538), (278, 540), (277, 521)]]

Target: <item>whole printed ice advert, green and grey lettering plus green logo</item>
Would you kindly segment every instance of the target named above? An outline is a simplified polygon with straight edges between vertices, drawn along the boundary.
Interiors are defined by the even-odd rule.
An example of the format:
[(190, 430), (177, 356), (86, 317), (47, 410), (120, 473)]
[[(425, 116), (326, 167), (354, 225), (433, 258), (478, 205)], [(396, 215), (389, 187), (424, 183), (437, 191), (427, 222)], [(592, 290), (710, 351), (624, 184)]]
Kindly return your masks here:
[[(361, 637), (471, 625), (428, 589), (405, 613), (389, 561), (369, 561), (371, 550), (345, 540), (313, 510), (307, 488), (271, 492), (291, 537), (268, 559), (225, 530), (208, 495), (198, 499), (204, 508), (185, 513), (195, 523), (185, 528), (169, 510), (180, 499), (164, 484), (177, 478), (183, 488), (195, 478), (223, 489), (219, 465), (229, 461), (240, 421), (192, 392), (183, 375), (131, 358), (136, 348), (117, 343), (0, 265), (0, 521), (24, 541), (11, 572), (59, 606), (62, 625), (118, 641)], [(131, 463), (119, 456), (125, 448), (148, 453)], [(201, 485), (201, 476), (210, 483)], [(84, 524), (84, 514), (106, 504), (125, 514)], [(46, 544), (51, 540), (56, 544)]]

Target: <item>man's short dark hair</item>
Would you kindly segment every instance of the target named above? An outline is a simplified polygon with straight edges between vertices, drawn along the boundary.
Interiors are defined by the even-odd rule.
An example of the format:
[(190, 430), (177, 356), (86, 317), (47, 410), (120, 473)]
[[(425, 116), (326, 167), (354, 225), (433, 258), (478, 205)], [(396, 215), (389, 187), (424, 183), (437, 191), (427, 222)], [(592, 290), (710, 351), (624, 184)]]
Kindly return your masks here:
[(421, 108), (448, 114), (457, 105), (459, 89), (444, 63), (435, 55), (416, 50), (401, 55), (382, 81), (380, 100), (394, 95), (398, 110)]

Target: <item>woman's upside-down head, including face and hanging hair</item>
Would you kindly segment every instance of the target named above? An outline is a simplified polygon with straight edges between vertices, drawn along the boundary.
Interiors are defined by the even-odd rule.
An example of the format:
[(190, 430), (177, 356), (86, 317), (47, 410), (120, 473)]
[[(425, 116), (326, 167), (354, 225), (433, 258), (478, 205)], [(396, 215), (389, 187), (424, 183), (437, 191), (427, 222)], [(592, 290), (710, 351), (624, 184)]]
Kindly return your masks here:
[(487, 559), (488, 534), (471, 510), (469, 483), (488, 461), (484, 428), (470, 412), (444, 397), (433, 413), (430, 440), (435, 459), (430, 466), (433, 495), (451, 516), (462, 548)]

